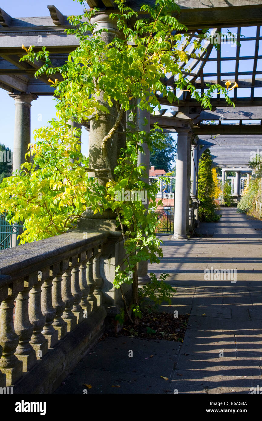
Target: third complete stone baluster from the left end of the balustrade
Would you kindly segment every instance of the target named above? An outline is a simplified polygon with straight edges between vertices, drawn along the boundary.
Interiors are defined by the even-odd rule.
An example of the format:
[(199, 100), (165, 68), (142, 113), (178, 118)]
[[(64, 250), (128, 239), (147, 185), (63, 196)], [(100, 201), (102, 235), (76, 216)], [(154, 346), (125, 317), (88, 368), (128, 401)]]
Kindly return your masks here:
[(45, 316), (41, 309), (41, 287), (44, 282), (42, 272), (35, 275), (34, 285), (29, 292), (29, 320), (33, 325), (33, 334), (30, 344), (34, 348), (37, 360), (41, 359), (48, 352), (48, 340), (42, 334), (45, 325)]

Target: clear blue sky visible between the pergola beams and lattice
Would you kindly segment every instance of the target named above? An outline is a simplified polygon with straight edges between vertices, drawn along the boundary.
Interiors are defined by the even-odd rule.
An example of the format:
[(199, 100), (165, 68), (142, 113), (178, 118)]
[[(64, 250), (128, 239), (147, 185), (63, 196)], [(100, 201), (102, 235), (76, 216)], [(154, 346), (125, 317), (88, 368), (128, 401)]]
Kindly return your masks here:
[[(50, 4), (50, 1), (36, 1), (36, 0), (1, 0), (1, 8), (7, 12), (12, 17), (29, 17), (29, 16), (49, 16), (49, 11), (47, 5)], [(61, 13), (65, 15), (70, 14), (81, 14), (83, 11), (83, 6), (77, 1), (73, 0), (55, 0), (55, 6)], [(87, 6), (88, 7), (88, 6)], [(236, 32), (236, 28), (226, 28), (222, 32), (227, 32), (227, 29), (230, 29), (231, 32)], [(242, 28), (241, 34), (246, 37), (254, 36), (254, 27), (252, 28)], [(254, 34), (254, 35), (253, 35)], [(250, 56), (254, 50), (254, 41), (241, 42), (241, 55)], [(261, 41), (260, 41), (261, 44)], [(262, 54), (262, 45), (259, 45), (259, 54)], [(214, 55), (213, 55), (214, 54)], [(212, 51), (212, 56), (215, 57), (216, 52)], [(222, 45), (221, 56), (223, 57), (233, 57), (236, 54), (236, 46), (230, 44)], [(211, 57), (212, 57), (211, 56)], [(235, 62), (234, 62), (235, 63)], [(209, 66), (209, 69), (206, 72), (214, 72), (215, 66), (214, 62), (209, 62), (206, 64)], [(225, 71), (230, 72), (234, 69), (234, 64), (231, 61), (225, 61), (222, 66), (225, 67)], [(260, 64), (259, 64), (260, 66)], [(261, 64), (262, 66), (262, 64)], [(205, 67), (206, 69), (206, 67)], [(223, 70), (222, 70), (223, 71)], [(245, 70), (246, 71), (246, 70)], [(232, 77), (230, 77), (231, 79)], [(257, 88), (262, 90), (262, 88)], [(243, 94), (249, 96), (249, 90), (242, 90)], [(233, 94), (233, 91), (231, 91)], [(259, 92), (260, 95), (262, 93)], [(241, 95), (242, 96), (242, 95)], [(55, 101), (51, 96), (40, 96), (36, 101), (32, 101), (31, 107), (31, 140), (33, 140), (33, 131), (36, 128), (40, 128), (47, 124), (47, 122), (55, 117)], [(10, 147), (13, 150), (13, 125), (15, 118), (15, 105), (14, 100), (8, 96), (8, 92), (0, 89), (0, 116), (1, 116), (1, 131), (0, 131), (0, 143), (5, 144), (5, 146)], [(176, 138), (176, 134), (173, 133), (173, 136)], [(82, 152), (87, 155), (88, 153), (88, 132), (83, 128), (82, 129)]]

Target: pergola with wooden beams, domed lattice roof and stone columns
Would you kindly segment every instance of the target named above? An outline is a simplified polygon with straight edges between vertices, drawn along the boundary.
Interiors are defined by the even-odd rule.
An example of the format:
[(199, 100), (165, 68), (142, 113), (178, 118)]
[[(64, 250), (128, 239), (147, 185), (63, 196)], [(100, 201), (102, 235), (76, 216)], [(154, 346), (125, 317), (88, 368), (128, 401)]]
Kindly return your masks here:
[[(100, 27), (109, 27), (109, 13), (115, 8), (111, 0), (87, 0), (90, 8), (100, 9)], [(139, 11), (140, 5), (154, 4), (154, 0), (127, 0), (127, 5)], [(216, 50), (212, 40), (206, 39), (206, 51), (200, 58), (189, 59), (183, 64), (183, 74), (199, 92), (204, 92), (207, 83), (225, 85), (230, 80), (230, 91), (235, 108), (228, 107), (225, 98), (215, 94), (211, 100), (212, 111), (201, 109), (199, 103), (188, 92), (177, 91), (179, 104), (172, 110), (170, 105), (159, 96), (163, 109), (150, 117), (150, 124), (156, 121), (167, 132), (177, 132), (177, 166), (175, 192), (174, 238), (187, 238), (189, 233), (189, 197), (197, 197), (198, 160), (207, 147), (210, 148), (214, 164), (225, 171), (236, 171), (236, 195), (238, 195), (239, 172), (250, 171), (248, 162), (251, 153), (262, 149), (262, 2), (260, 0), (177, 0), (181, 13), (179, 21), (188, 27), (191, 39), (196, 39), (202, 29), (209, 28), (211, 34), (223, 28), (237, 33), (237, 42), (230, 48), (232, 54), (225, 53), (224, 46)], [(53, 95), (48, 77), (34, 78), (34, 72), (41, 62), (27, 64), (19, 62), (25, 51), (22, 44), (34, 45), (34, 50), (45, 47), (51, 53), (55, 65), (64, 63), (68, 53), (78, 46), (74, 35), (66, 35), (69, 27), (66, 16), (54, 5), (48, 6), (50, 16), (13, 18), (0, 9), (0, 87), (8, 91), (16, 102), (15, 144), (13, 170), (20, 169), (24, 160), (27, 144), (30, 142), (31, 102), (40, 95)], [(250, 36), (240, 37), (246, 27)], [(245, 44), (246, 43), (246, 44)], [(242, 51), (244, 52), (242, 54)], [(246, 53), (248, 51), (248, 53)], [(56, 75), (57, 79), (61, 76)], [(169, 89), (176, 89), (174, 75), (166, 75), (165, 83)], [(149, 129), (149, 126), (148, 126)], [(93, 136), (93, 134), (92, 134)], [(90, 143), (92, 143), (90, 133)], [(143, 161), (144, 159), (144, 161)], [(149, 156), (141, 163), (149, 171)], [(230, 168), (230, 170), (229, 170)]]

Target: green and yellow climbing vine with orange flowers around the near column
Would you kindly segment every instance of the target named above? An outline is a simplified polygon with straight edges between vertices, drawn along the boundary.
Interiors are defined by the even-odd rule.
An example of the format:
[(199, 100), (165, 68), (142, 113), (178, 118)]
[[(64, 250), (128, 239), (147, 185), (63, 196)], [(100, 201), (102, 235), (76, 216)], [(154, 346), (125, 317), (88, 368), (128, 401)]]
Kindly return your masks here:
[[(84, 2), (80, 3), (85, 6)], [(24, 224), (20, 238), (21, 243), (26, 243), (66, 232), (87, 208), (94, 214), (111, 208), (116, 213), (126, 250), (126, 268), (116, 267), (114, 284), (122, 288), (124, 282), (132, 283), (132, 314), (127, 307), (126, 312), (130, 320), (136, 320), (139, 311), (136, 265), (141, 260), (157, 263), (162, 256), (161, 241), (155, 235), (157, 187), (143, 181), (145, 167), (138, 166), (138, 153), (143, 153), (144, 142), (151, 152), (164, 148), (164, 134), (157, 125), (150, 133), (138, 129), (135, 122), (139, 111), (160, 109), (159, 93), (170, 104), (177, 102), (176, 90), (168, 89), (164, 83), (167, 74), (176, 75), (176, 87), (189, 91), (203, 107), (211, 109), (210, 99), (216, 92), (223, 93), (229, 105), (233, 103), (227, 88), (210, 85), (200, 94), (185, 79), (182, 72), (185, 63), (204, 51), (201, 45), (204, 31), (192, 40), (187, 28), (174, 17), (179, 8), (172, 0), (157, 0), (154, 7), (143, 5), (140, 9), (143, 17), (126, 7), (123, 0), (116, 0), (115, 4), (118, 11), (111, 13), (110, 18), (122, 36), (116, 36), (109, 44), (101, 36), (105, 30), (98, 29), (91, 21), (98, 9), (69, 16), (71, 27), (66, 32), (78, 38), (79, 47), (60, 67), (52, 63), (45, 47), (35, 52), (34, 46), (23, 45), (27, 54), (21, 60), (42, 61), (35, 76), (47, 75), (55, 88), (56, 118), (34, 132), (35, 143), (26, 155), (28, 161), (21, 165), (21, 171), (0, 185), (0, 212), (7, 212), (10, 222)], [(190, 52), (192, 44), (197, 54)], [(99, 100), (102, 92), (106, 106)], [(128, 127), (122, 123), (126, 112)], [(89, 160), (80, 150), (80, 131), (72, 129), (68, 122), (86, 125), (107, 115), (114, 121), (101, 143), (103, 175), (94, 177), (90, 173), (95, 173), (97, 168), (89, 166)], [(125, 133), (126, 146), (120, 151), (116, 168), (112, 168), (108, 145), (119, 130)], [(206, 188), (202, 183), (201, 192)], [(118, 195), (122, 189), (124, 192), (146, 190), (148, 212), (139, 200), (122, 200)], [(211, 196), (209, 209), (205, 208), (206, 199), (202, 200), (203, 215), (215, 218)]]

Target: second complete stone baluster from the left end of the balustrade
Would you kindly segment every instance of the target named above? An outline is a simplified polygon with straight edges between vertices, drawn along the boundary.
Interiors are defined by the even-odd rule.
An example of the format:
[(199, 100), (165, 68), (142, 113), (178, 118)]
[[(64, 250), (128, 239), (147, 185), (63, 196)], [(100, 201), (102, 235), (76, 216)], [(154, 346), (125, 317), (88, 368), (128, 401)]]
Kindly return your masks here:
[(14, 328), (19, 336), (19, 344), (16, 348), (16, 357), (23, 362), (23, 371), (29, 371), (37, 362), (34, 348), (29, 343), (33, 335), (34, 327), (29, 320), (29, 291), (32, 289), (34, 280), (32, 277), (24, 279), (24, 289), (16, 297), (16, 317)]

